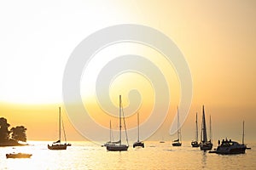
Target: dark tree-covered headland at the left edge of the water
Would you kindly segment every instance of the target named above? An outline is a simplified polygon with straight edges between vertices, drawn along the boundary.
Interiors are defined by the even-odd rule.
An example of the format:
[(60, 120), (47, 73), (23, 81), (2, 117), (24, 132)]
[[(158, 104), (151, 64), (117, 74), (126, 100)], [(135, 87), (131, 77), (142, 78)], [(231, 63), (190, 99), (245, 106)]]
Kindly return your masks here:
[(26, 127), (17, 126), (11, 127), (4, 117), (0, 118), (0, 146), (21, 146), (27, 144), (20, 144), (20, 142), (26, 143)]

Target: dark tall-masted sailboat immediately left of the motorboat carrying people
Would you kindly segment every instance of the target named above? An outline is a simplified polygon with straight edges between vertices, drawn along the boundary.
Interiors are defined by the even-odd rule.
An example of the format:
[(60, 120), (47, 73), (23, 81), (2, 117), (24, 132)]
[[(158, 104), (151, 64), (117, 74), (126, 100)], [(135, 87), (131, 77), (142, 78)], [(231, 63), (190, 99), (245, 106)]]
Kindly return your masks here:
[(212, 126), (211, 126), (211, 116), (210, 116), (210, 140), (207, 141), (207, 124), (205, 118), (205, 108), (203, 105), (203, 114), (202, 114), (202, 122), (201, 122), (201, 150), (212, 150)]

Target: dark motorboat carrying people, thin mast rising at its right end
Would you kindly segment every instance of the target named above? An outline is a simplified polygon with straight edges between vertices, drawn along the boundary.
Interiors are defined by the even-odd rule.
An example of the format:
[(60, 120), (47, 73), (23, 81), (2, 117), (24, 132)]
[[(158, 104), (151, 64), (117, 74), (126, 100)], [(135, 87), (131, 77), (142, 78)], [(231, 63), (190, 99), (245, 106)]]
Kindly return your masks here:
[[(218, 144), (219, 143), (220, 141), (218, 140)], [(242, 144), (231, 139), (223, 139), (221, 144), (218, 145), (215, 153), (223, 155), (244, 154), (245, 150), (247, 150), (247, 145), (244, 144), (244, 122), (242, 122)]]

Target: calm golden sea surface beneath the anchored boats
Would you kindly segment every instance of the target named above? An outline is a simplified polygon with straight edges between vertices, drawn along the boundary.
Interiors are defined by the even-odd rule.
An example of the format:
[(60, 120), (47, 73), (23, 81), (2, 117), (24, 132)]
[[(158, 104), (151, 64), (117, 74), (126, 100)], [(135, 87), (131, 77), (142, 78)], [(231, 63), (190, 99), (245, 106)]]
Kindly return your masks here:
[[(28, 142), (29, 146), (1, 147), (0, 169), (256, 169), (256, 144), (246, 154), (219, 156), (183, 142), (145, 142), (145, 148), (111, 152), (90, 142), (73, 142), (67, 150), (48, 150), (50, 142)], [(216, 145), (213, 145), (215, 148)], [(30, 159), (6, 159), (11, 152), (31, 153)]]

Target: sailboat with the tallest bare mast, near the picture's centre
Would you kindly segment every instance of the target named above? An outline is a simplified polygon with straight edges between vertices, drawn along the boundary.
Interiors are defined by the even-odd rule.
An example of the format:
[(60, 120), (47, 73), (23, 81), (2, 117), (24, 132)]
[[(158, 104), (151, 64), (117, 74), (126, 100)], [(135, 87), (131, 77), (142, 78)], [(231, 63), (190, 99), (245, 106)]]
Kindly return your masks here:
[[(125, 151), (125, 150), (128, 150), (129, 145), (122, 144), (121, 112), (122, 112), (122, 99), (121, 99), (121, 95), (119, 95), (119, 141), (112, 142), (111, 144), (108, 144), (107, 145), (107, 150), (108, 151)], [(125, 118), (124, 118), (124, 122), (125, 122)], [(126, 133), (126, 127), (125, 127), (125, 133)], [(127, 133), (126, 133), (126, 141), (128, 143)]]

